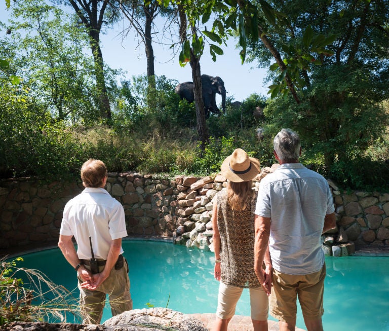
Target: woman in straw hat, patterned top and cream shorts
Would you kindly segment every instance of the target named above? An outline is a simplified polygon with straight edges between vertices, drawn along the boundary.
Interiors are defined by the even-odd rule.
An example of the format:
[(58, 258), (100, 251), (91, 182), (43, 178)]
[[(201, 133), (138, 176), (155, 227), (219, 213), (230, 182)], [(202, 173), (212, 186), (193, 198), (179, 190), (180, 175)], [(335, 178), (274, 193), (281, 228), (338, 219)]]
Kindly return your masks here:
[(257, 193), (252, 179), (260, 163), (242, 149), (236, 149), (221, 165), (228, 179), (227, 190), (221, 190), (213, 205), (212, 226), (215, 250), (215, 278), (220, 281), (215, 331), (226, 331), (235, 314), (243, 288), (250, 290), (251, 320), (254, 331), (267, 331), (268, 295), (271, 264), (265, 254), (264, 290), (254, 271), (254, 210)]

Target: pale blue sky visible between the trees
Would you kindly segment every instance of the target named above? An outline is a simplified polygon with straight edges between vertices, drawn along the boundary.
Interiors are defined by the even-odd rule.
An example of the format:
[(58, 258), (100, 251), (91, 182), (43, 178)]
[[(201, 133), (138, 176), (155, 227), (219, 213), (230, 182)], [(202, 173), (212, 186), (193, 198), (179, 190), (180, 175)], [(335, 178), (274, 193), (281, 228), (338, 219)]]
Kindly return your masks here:
[[(0, 21), (7, 22), (9, 14), (10, 11), (6, 9), (5, 0), (0, 0)], [(143, 44), (137, 48), (138, 42), (134, 30), (131, 30), (122, 41), (120, 35), (122, 27), (123, 22), (101, 35), (102, 53), (104, 61), (111, 68), (121, 68), (127, 71), (124, 79), (131, 79), (132, 76), (146, 73), (146, 56)], [(162, 31), (162, 26), (160, 30)], [(5, 34), (6, 31), (0, 31), (1, 38)], [(242, 101), (251, 93), (266, 95), (266, 86), (269, 85), (263, 83), (266, 70), (252, 68), (250, 63), (242, 65), (239, 50), (235, 48), (235, 45), (236, 41), (230, 39), (227, 43), (228, 47), (222, 46), (224, 55), (217, 56), (216, 62), (212, 61), (207, 49), (200, 61), (201, 72), (221, 77), (228, 92), (227, 96), (234, 96), (235, 100)], [(181, 67), (178, 63), (178, 55), (172, 59), (173, 54), (169, 47), (170, 45), (153, 44), (155, 75), (165, 75), (167, 78), (177, 79), (179, 82), (191, 81), (189, 64)], [(217, 95), (216, 102), (221, 102), (220, 95)]]

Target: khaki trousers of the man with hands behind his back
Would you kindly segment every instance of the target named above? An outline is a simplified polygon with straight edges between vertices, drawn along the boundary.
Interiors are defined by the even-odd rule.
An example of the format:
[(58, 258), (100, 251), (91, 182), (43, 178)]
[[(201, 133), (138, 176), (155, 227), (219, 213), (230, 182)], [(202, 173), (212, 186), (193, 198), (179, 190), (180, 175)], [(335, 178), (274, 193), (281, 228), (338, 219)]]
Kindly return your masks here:
[[(89, 269), (89, 266), (85, 267)], [(100, 272), (104, 270), (104, 266), (100, 266), (99, 270)], [(84, 317), (84, 324), (100, 324), (106, 295), (108, 295), (112, 316), (132, 310), (130, 279), (127, 270), (128, 264), (125, 259), (123, 268), (116, 270), (113, 267), (108, 278), (94, 291), (81, 288), (80, 284), (82, 281), (79, 278), (80, 307)]]

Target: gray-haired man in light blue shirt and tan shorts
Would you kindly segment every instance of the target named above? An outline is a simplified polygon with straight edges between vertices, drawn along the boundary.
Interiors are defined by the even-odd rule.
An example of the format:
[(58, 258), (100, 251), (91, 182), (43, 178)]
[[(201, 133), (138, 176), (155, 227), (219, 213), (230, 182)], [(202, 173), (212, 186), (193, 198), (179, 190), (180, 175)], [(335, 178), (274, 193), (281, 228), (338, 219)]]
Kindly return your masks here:
[[(298, 159), (298, 134), (282, 129), (274, 138), (280, 167), (264, 177), (255, 209), (255, 270), (269, 245), (273, 264), (270, 314), (280, 330), (294, 330), (298, 297), (308, 331), (323, 330), (326, 268), (321, 235), (336, 225), (332, 193), (327, 180), (305, 168)], [(258, 272), (257, 272), (258, 271)]]

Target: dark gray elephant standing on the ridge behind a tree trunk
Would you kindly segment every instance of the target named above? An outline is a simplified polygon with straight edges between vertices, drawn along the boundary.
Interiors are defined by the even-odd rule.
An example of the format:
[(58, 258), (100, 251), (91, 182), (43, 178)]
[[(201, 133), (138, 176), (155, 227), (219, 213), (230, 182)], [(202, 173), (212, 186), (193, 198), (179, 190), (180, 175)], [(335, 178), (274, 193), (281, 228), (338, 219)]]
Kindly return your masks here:
[[(220, 109), (216, 105), (216, 93), (221, 94), (221, 107), (223, 113), (225, 113), (225, 94), (227, 93), (224, 87), (223, 80), (218, 77), (212, 77), (209, 75), (201, 75), (201, 84), (203, 88), (203, 102), (205, 107), (206, 118), (209, 117), (210, 112), (215, 114), (221, 114)], [(178, 84), (175, 88), (175, 92), (188, 102), (195, 101), (194, 85), (192, 82), (184, 82)]]

